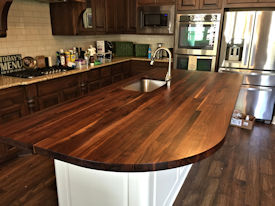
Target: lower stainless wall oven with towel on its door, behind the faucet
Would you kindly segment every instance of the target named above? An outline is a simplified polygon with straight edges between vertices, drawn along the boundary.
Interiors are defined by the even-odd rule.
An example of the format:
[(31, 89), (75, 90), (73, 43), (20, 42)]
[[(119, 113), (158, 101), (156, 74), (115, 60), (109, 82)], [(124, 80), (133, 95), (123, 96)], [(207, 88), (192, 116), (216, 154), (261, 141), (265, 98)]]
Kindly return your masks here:
[(215, 71), (216, 56), (175, 54), (175, 69)]

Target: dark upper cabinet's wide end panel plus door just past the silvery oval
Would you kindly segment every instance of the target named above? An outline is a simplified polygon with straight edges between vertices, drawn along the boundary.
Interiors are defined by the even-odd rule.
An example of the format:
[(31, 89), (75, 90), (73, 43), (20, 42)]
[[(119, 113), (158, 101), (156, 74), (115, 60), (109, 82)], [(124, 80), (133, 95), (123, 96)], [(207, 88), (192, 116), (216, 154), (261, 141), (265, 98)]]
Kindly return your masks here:
[(105, 1), (50, 4), (53, 35), (88, 35), (105, 33)]

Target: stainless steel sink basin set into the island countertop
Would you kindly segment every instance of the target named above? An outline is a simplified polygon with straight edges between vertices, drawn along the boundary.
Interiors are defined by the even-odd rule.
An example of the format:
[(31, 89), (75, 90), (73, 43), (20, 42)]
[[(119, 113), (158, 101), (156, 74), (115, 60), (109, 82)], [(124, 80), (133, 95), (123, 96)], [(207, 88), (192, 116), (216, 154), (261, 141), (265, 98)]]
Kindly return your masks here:
[(164, 86), (165, 84), (166, 81), (142, 78), (137, 82), (131, 83), (123, 87), (123, 89), (139, 92), (152, 92), (157, 88)]

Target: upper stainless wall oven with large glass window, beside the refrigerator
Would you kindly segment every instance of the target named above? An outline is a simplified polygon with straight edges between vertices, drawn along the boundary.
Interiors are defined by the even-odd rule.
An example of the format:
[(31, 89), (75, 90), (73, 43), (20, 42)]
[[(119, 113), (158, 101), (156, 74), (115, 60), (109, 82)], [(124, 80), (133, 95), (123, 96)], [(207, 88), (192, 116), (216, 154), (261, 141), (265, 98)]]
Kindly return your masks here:
[(175, 53), (217, 54), (220, 14), (177, 14)]

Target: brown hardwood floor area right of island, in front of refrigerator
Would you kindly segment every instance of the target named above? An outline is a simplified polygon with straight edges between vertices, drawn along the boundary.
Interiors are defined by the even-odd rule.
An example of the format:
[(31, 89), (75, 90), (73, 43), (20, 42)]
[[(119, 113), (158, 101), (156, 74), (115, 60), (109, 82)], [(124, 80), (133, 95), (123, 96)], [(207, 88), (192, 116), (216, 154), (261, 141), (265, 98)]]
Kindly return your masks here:
[(275, 202), (275, 126), (230, 127), (225, 144), (192, 167), (174, 206), (271, 206)]

